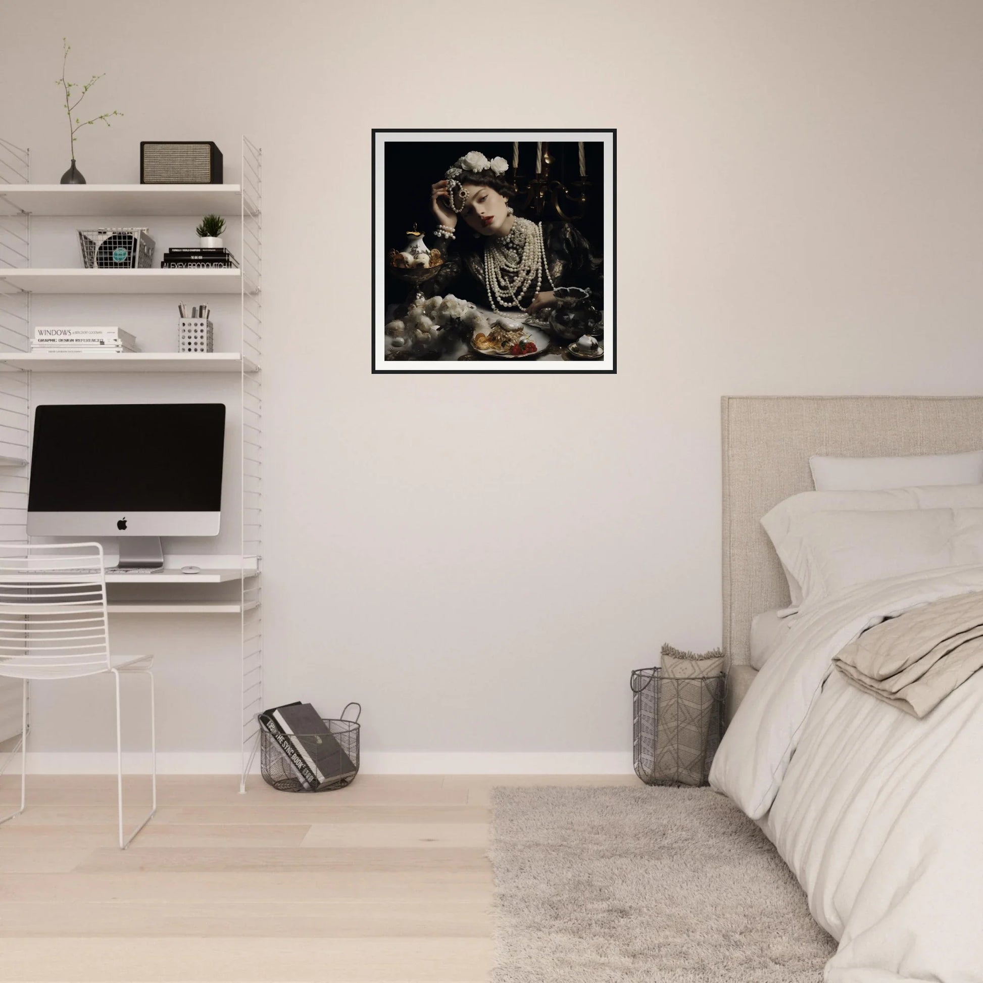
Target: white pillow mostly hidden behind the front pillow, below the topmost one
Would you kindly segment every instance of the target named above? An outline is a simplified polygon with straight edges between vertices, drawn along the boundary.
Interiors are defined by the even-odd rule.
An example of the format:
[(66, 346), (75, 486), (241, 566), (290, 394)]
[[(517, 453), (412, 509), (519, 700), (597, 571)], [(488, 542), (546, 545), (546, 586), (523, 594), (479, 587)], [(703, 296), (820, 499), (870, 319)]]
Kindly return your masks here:
[[(938, 485), (928, 488), (886, 489), (882, 492), (799, 492), (779, 502), (761, 520), (779, 557), (792, 524), (817, 512), (886, 512), (923, 508), (983, 508), (983, 485)], [(791, 608), (802, 603), (802, 588), (785, 565)], [(786, 608), (787, 610), (787, 608)]]

